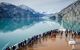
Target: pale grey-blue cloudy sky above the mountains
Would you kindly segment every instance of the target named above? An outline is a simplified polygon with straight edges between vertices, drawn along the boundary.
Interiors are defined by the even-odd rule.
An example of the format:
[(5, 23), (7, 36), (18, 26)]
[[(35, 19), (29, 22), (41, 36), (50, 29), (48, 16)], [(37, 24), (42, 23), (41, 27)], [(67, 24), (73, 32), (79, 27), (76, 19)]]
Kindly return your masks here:
[(0, 0), (14, 5), (26, 5), (37, 12), (57, 13), (76, 0)]

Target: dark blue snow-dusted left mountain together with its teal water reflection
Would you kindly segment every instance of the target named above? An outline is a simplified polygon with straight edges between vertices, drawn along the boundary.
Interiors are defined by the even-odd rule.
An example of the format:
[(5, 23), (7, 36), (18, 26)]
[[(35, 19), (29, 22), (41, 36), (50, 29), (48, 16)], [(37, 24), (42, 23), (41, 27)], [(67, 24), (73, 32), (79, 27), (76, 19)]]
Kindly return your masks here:
[(0, 31), (9, 31), (39, 22), (44, 14), (27, 6), (15, 6), (10, 3), (0, 3)]

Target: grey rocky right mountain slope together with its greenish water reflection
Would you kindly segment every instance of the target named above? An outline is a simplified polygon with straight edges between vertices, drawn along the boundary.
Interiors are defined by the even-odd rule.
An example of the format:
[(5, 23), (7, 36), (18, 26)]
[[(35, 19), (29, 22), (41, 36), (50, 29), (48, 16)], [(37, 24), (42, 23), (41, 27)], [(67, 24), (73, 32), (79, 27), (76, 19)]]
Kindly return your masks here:
[(80, 0), (72, 3), (58, 13), (62, 16), (63, 26), (66, 29), (80, 31)]

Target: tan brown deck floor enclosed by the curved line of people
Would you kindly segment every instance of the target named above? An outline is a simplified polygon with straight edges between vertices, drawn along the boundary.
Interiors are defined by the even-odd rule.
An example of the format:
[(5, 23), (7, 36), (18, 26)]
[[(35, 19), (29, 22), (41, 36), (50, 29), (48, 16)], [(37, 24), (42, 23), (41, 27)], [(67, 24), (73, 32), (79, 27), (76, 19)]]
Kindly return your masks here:
[[(76, 38), (76, 41), (78, 44), (75, 45), (75, 50), (80, 50), (80, 38)], [(33, 46), (24, 46), (19, 50), (72, 50), (72, 46), (68, 44), (64, 35), (56, 35), (56, 37), (48, 36), (41, 38)]]

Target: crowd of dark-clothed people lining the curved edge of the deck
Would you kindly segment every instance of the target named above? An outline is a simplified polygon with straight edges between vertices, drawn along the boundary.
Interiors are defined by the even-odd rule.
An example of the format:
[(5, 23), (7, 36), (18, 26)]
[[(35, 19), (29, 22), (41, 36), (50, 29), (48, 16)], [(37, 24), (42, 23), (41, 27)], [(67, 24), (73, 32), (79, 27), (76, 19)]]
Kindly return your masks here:
[[(72, 32), (72, 31), (66, 30), (65, 36), (67, 37), (70, 32)], [(58, 29), (51, 30), (51, 31), (48, 31), (48, 32), (43, 33), (43, 34), (35, 35), (31, 38), (28, 38), (27, 40), (23, 40), (22, 42), (17, 44), (17, 47), (16, 47), (16, 45), (14, 45), (12, 47), (7, 47), (5, 50), (18, 50), (19, 48), (24, 47), (24, 46), (33, 46), (34, 42), (38, 41), (39, 39), (44, 38), (46, 36), (56, 36), (57, 33), (60, 33), (61, 36), (63, 35), (63, 31), (59, 31)], [(74, 37), (76, 35), (77, 35), (76, 32), (72, 33), (72, 37)]]

